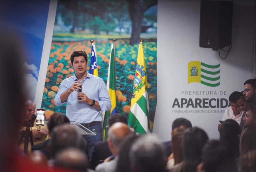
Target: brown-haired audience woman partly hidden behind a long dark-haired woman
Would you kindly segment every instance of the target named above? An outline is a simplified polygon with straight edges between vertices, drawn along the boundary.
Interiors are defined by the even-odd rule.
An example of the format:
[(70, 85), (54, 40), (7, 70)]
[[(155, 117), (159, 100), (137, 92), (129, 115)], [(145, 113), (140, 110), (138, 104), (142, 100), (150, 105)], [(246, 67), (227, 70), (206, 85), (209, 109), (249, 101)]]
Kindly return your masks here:
[(172, 144), (173, 153), (168, 158), (166, 169), (171, 169), (174, 165), (179, 164), (183, 160), (181, 141), (182, 141), (182, 136), (184, 132), (185, 132), (184, 126), (176, 127), (172, 132), (171, 144)]

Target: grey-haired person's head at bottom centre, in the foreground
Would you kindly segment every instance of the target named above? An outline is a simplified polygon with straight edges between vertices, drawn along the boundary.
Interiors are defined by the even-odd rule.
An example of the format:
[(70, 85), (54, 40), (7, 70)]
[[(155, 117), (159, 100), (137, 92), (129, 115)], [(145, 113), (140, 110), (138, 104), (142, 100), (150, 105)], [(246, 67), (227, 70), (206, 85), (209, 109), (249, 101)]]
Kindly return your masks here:
[(164, 172), (166, 151), (154, 135), (142, 135), (131, 146), (129, 159), (133, 172)]

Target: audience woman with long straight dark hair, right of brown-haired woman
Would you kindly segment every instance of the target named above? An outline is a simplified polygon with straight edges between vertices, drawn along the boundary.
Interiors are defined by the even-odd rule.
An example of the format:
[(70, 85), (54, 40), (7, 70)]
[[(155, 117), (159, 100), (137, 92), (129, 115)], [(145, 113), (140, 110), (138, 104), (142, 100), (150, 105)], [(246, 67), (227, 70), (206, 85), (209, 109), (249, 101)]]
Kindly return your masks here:
[(182, 138), (183, 162), (175, 165), (171, 172), (194, 172), (201, 163), (201, 152), (208, 136), (204, 130), (188, 128)]

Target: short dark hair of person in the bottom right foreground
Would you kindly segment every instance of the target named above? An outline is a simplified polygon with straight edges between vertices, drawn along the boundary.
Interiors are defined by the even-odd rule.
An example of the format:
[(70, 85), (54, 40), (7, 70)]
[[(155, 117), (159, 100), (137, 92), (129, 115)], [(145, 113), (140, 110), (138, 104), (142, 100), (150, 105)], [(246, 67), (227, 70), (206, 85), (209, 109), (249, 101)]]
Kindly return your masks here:
[(228, 159), (225, 145), (218, 140), (209, 140), (202, 150), (202, 162), (205, 172), (214, 172)]

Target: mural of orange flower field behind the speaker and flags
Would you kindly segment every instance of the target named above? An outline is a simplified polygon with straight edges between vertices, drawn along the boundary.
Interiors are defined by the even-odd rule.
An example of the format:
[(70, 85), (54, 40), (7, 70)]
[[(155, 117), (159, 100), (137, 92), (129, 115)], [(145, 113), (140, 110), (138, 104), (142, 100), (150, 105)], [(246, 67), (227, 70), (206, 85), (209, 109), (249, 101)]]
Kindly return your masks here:
[[(78, 2), (80, 1), (78, 0)], [(126, 6), (124, 5), (125, 3)], [(115, 42), (117, 89), (116, 107), (118, 113), (122, 113), (128, 116), (131, 105), (131, 96), (133, 89), (136, 60), (138, 55), (138, 46), (140, 42), (139, 37), (141, 37), (145, 40), (143, 42), (143, 49), (145, 54), (145, 62), (147, 65), (147, 88), (149, 96), (151, 123), (150, 128), (152, 129), (157, 103), (157, 21), (151, 22), (154, 23), (154, 26), (153, 24), (152, 26), (148, 27), (142, 26), (142, 31), (139, 34), (139, 37), (136, 38), (137, 43), (132, 44), (132, 23), (131, 19), (129, 19), (129, 12), (127, 11), (129, 4), (127, 3), (127, 1), (123, 1), (123, 3), (120, 3), (119, 5), (125, 6), (122, 10), (122, 13), (124, 14), (116, 15), (116, 18), (121, 16), (122, 20), (116, 19), (113, 21), (123, 21), (121, 22), (122, 25), (120, 25), (120, 23), (112, 23), (113, 28), (111, 31), (105, 31), (103, 28), (101, 31), (95, 31), (93, 30), (93, 28), (89, 27), (90, 24), (88, 23), (86, 23), (83, 27), (80, 27), (80, 25), (68, 27), (67, 24), (65, 24), (65, 22), (62, 21), (67, 19), (71, 15), (70, 13), (68, 13), (70, 16), (65, 17), (68, 8), (67, 11), (63, 10), (65, 9), (65, 4), (61, 4), (58, 2), (56, 13), (57, 19), (55, 21), (54, 26), (53, 41), (51, 44), (51, 51), (49, 54), (49, 63), (45, 78), (45, 87), (41, 106), (42, 108), (45, 108), (46, 119), (49, 119), (51, 114), (53, 114), (54, 112), (61, 112), (63, 114), (66, 113), (66, 104), (57, 107), (54, 105), (54, 98), (58, 92), (58, 88), (61, 82), (65, 78), (68, 78), (75, 74), (74, 69), (72, 68), (72, 64), (70, 62), (70, 55), (73, 53), (73, 51), (86, 51), (88, 55), (88, 64), (90, 64), (90, 39), (94, 39), (96, 47), (98, 75), (100, 78), (104, 80), (105, 83), (107, 82), (109, 56), (111, 42), (113, 38), (117, 39)], [(150, 11), (145, 12), (145, 14), (149, 14), (149, 16), (151, 16), (151, 18), (148, 18), (147, 23), (150, 23), (148, 21), (151, 21), (152, 18), (157, 18), (154, 17), (157, 16), (157, 6), (154, 6)], [(115, 17), (114, 14), (112, 15), (112, 17)], [(103, 17), (101, 20), (99, 19), (96, 20), (96, 18), (94, 18), (94, 20), (91, 22), (95, 23), (96, 21), (98, 21), (98, 24), (100, 24), (100, 22), (103, 22), (105, 18)], [(89, 67), (87, 67), (87, 71), (89, 71)]]

